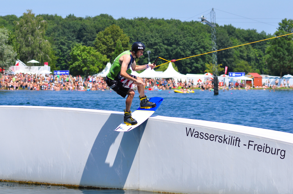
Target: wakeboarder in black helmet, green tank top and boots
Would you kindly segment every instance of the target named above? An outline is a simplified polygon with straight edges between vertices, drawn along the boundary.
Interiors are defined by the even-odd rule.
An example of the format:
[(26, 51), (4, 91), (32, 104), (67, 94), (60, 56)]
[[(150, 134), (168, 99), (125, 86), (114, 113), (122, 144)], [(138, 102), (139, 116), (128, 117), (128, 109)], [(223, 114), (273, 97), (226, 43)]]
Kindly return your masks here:
[(126, 108), (124, 109), (124, 123), (127, 125), (136, 125), (137, 121), (132, 118), (131, 104), (134, 98), (134, 90), (131, 89), (132, 84), (137, 85), (137, 90), (140, 99), (140, 108), (154, 108), (156, 103), (149, 102), (147, 96), (144, 95), (144, 81), (142, 78), (135, 75), (130, 75), (126, 71), (131, 67), (133, 71), (139, 71), (151, 67), (152, 69), (156, 65), (136, 65), (136, 58), (143, 55), (145, 46), (141, 42), (134, 42), (131, 47), (131, 51), (124, 51), (118, 55), (113, 64), (110, 67), (109, 73), (106, 76), (106, 84), (117, 94), (126, 98)]

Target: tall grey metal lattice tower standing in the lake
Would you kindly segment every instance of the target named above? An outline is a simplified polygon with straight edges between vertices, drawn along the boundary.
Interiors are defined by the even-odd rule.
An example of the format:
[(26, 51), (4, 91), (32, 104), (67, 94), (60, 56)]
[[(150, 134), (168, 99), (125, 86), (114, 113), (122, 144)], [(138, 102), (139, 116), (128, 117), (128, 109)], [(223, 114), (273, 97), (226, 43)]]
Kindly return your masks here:
[[(211, 22), (207, 21), (202, 15), (201, 21), (206, 23), (212, 28), (212, 51), (217, 51), (217, 36), (216, 36), (216, 14), (214, 8), (210, 12)], [(213, 77), (214, 77), (214, 95), (219, 94), (218, 89), (218, 63), (217, 63), (217, 52), (212, 53), (213, 59)]]

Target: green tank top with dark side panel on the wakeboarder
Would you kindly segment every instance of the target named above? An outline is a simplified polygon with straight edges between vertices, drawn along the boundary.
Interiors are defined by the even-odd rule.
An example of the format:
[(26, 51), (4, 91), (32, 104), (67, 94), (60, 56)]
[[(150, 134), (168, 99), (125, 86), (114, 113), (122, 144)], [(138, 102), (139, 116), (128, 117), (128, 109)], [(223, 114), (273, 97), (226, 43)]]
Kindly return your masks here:
[(120, 76), (121, 65), (119, 63), (119, 59), (123, 55), (130, 55), (131, 59), (130, 59), (130, 62), (128, 63), (127, 70), (131, 67), (132, 63), (134, 62), (134, 58), (132, 57), (132, 54), (129, 50), (124, 51), (123, 53), (118, 55), (115, 58), (114, 62), (112, 63), (110, 70), (109, 70), (109, 73), (107, 74), (108, 78), (110, 78), (112, 80), (119, 80), (119, 81), (122, 79), (122, 77)]

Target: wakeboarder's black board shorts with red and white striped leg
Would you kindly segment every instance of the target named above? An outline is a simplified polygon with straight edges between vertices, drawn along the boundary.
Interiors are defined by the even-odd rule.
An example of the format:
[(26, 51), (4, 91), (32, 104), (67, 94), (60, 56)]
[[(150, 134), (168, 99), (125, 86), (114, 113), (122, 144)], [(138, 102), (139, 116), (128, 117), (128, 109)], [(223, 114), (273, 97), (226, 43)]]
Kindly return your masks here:
[[(130, 74), (128, 74), (130, 75)], [(135, 75), (130, 75), (131, 77), (137, 79)], [(126, 97), (128, 90), (130, 90), (133, 81), (128, 79), (122, 79), (121, 82), (118, 80), (112, 80), (108, 77), (106, 77), (106, 84), (117, 94), (122, 96), (123, 98)]]

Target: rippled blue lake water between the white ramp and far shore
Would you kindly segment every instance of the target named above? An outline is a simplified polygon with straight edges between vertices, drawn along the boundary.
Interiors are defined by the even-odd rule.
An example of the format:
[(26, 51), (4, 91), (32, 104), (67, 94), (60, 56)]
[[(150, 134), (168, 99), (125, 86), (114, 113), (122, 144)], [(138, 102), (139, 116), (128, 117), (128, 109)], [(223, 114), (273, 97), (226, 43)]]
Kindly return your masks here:
[[(170, 93), (169, 93), (170, 92)], [(230, 90), (174, 93), (146, 91), (164, 98), (153, 114), (259, 127), (293, 133), (293, 90)], [(136, 91), (131, 110), (139, 106)], [(30, 105), (123, 111), (125, 99), (114, 91), (0, 91), (0, 105)]]

